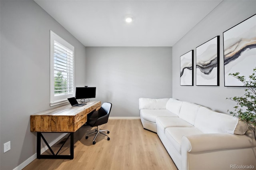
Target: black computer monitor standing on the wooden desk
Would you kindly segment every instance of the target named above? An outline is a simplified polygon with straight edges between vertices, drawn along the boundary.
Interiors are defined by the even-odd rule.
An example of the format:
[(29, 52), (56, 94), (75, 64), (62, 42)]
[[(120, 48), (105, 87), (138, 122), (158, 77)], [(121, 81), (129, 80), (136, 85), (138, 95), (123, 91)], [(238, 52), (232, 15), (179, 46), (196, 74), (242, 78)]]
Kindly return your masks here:
[(76, 99), (90, 99), (96, 97), (96, 87), (76, 87)]

